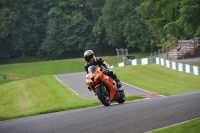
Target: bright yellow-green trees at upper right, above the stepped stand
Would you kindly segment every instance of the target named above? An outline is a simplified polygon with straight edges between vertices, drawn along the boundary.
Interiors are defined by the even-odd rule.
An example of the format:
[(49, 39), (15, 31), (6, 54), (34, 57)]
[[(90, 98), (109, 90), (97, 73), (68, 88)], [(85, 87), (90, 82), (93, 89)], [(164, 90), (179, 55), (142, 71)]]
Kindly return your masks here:
[(199, 36), (198, 0), (146, 0), (136, 10), (160, 44)]

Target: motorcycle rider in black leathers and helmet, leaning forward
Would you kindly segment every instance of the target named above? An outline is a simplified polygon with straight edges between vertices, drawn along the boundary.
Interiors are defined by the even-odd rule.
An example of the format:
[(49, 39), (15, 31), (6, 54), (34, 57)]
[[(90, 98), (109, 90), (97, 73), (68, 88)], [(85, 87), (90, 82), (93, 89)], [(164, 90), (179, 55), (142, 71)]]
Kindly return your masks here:
[[(105, 68), (104, 74), (113, 78), (117, 83), (117, 87), (121, 88), (122, 83), (117, 78), (117, 75), (113, 71), (109, 70), (109, 65), (101, 57), (95, 57), (94, 52), (92, 50), (86, 50), (84, 52), (84, 58), (86, 61), (84, 68), (87, 73), (88, 73), (88, 67), (91, 65), (99, 65), (100, 67), (103, 66)], [(90, 88), (88, 89), (90, 90)]]

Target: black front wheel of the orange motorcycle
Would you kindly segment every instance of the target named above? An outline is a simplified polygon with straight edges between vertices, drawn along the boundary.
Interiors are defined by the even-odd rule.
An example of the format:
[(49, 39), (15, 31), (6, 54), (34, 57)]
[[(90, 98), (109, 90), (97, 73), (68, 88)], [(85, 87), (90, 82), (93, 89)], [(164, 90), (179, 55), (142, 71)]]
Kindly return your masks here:
[(98, 99), (101, 101), (101, 103), (105, 106), (109, 106), (110, 105), (110, 98), (109, 96), (106, 96), (103, 92), (101, 87), (98, 87), (95, 89), (96, 90), (96, 94), (98, 96)]

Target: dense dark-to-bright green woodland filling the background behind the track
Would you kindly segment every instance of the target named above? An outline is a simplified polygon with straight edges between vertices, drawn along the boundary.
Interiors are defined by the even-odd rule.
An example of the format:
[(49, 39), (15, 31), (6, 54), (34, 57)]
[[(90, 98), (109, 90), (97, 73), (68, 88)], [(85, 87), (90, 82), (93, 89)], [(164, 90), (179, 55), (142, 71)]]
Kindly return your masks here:
[(0, 61), (146, 50), (200, 36), (199, 0), (0, 0)]

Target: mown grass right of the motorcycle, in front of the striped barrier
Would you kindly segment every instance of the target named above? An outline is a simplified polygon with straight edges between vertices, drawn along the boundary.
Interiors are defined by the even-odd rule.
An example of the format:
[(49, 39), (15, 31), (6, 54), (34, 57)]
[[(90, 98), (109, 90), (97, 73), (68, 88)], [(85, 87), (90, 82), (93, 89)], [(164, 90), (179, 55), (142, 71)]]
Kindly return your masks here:
[(200, 90), (200, 76), (157, 64), (126, 66), (113, 70), (122, 81), (162, 95)]

